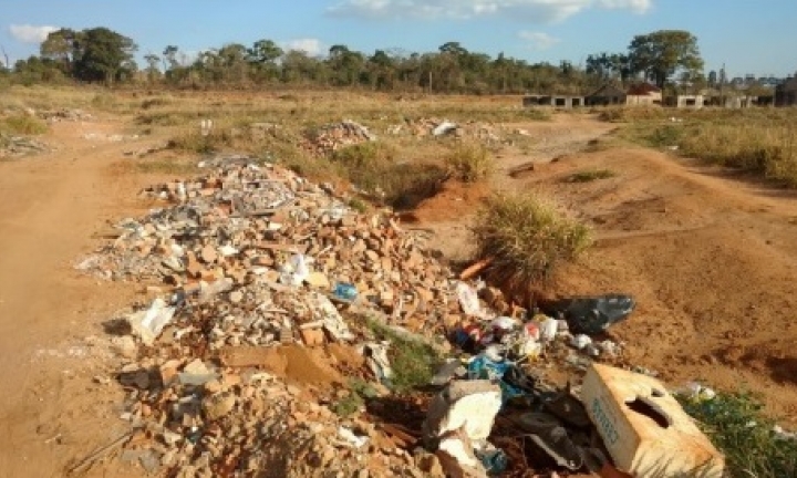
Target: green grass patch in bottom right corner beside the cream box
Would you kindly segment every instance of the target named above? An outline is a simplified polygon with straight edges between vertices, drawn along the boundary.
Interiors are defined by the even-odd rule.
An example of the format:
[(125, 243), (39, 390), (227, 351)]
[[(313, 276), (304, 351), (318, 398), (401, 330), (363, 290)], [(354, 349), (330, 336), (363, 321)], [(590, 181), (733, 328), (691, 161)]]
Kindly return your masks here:
[(713, 399), (679, 397), (714, 445), (725, 454), (732, 477), (797, 476), (797, 440), (778, 437), (775, 422), (749, 393), (718, 394)]

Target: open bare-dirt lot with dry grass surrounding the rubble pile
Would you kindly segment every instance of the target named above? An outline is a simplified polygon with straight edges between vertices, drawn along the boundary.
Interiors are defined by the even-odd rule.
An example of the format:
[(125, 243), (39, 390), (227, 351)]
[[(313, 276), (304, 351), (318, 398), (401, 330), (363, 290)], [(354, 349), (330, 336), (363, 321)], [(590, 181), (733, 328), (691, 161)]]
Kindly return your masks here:
[[(712, 113), (684, 123), (671, 121), (672, 112), (641, 119), (610, 115), (614, 122), (608, 122), (598, 113), (540, 113), (518, 104), (516, 97), (312, 92), (20, 89), (4, 95), (0, 114), (11, 119), (0, 127), (49, 150), (0, 159), (2, 474), (59, 476), (70, 460), (122, 433), (122, 393), (93, 380), (106, 371), (101, 347), (91, 344), (103, 340), (102, 323), (142, 291), (97, 283), (72, 266), (96, 247), (106, 221), (149, 206), (136, 199), (142, 187), (190, 175), (213, 150), (260, 154), (315, 179), (354, 183), (365, 189), (356, 207), (405, 209), (411, 226), (436, 233), (439, 249), (455, 259), (467, 259), (473, 241), (466, 226), (490, 191), (534, 189), (550, 197), (593, 226), (597, 246), (561, 271), (549, 292), (633, 293), (638, 311), (612, 330), (633, 362), (672, 385), (704, 380), (762, 393), (770, 413), (797, 425), (797, 323), (790, 319), (797, 309), (797, 196), (782, 187), (788, 180), (770, 173), (769, 163), (726, 159), (735, 154), (729, 147), (722, 159), (705, 158), (753, 173), (667, 148), (694, 156), (700, 145), (666, 128), (708, 131), (722, 123)], [(92, 117), (50, 121), (45, 128), (43, 119), (22, 119), (60, 108)], [(748, 119), (756, 128), (793, 127), (777, 115), (754, 114)], [(743, 124), (741, 117), (728, 124)], [(208, 135), (200, 132), (203, 119), (214, 122)], [(343, 119), (366, 126), (376, 146), (318, 154), (309, 133)], [(425, 125), (443, 119), (462, 125), (464, 137), (431, 135)], [(679, 136), (651, 142), (644, 132)], [(733, 136), (722, 128), (714, 134)], [(759, 147), (793, 160), (785, 138), (773, 136), (779, 148)], [(463, 143), (495, 158), (489, 178), (478, 180), (480, 163), (468, 169)], [(457, 152), (462, 160), (451, 159)], [(787, 159), (778, 170), (788, 170)], [(475, 183), (447, 179), (457, 173), (452, 165), (478, 170)]]

